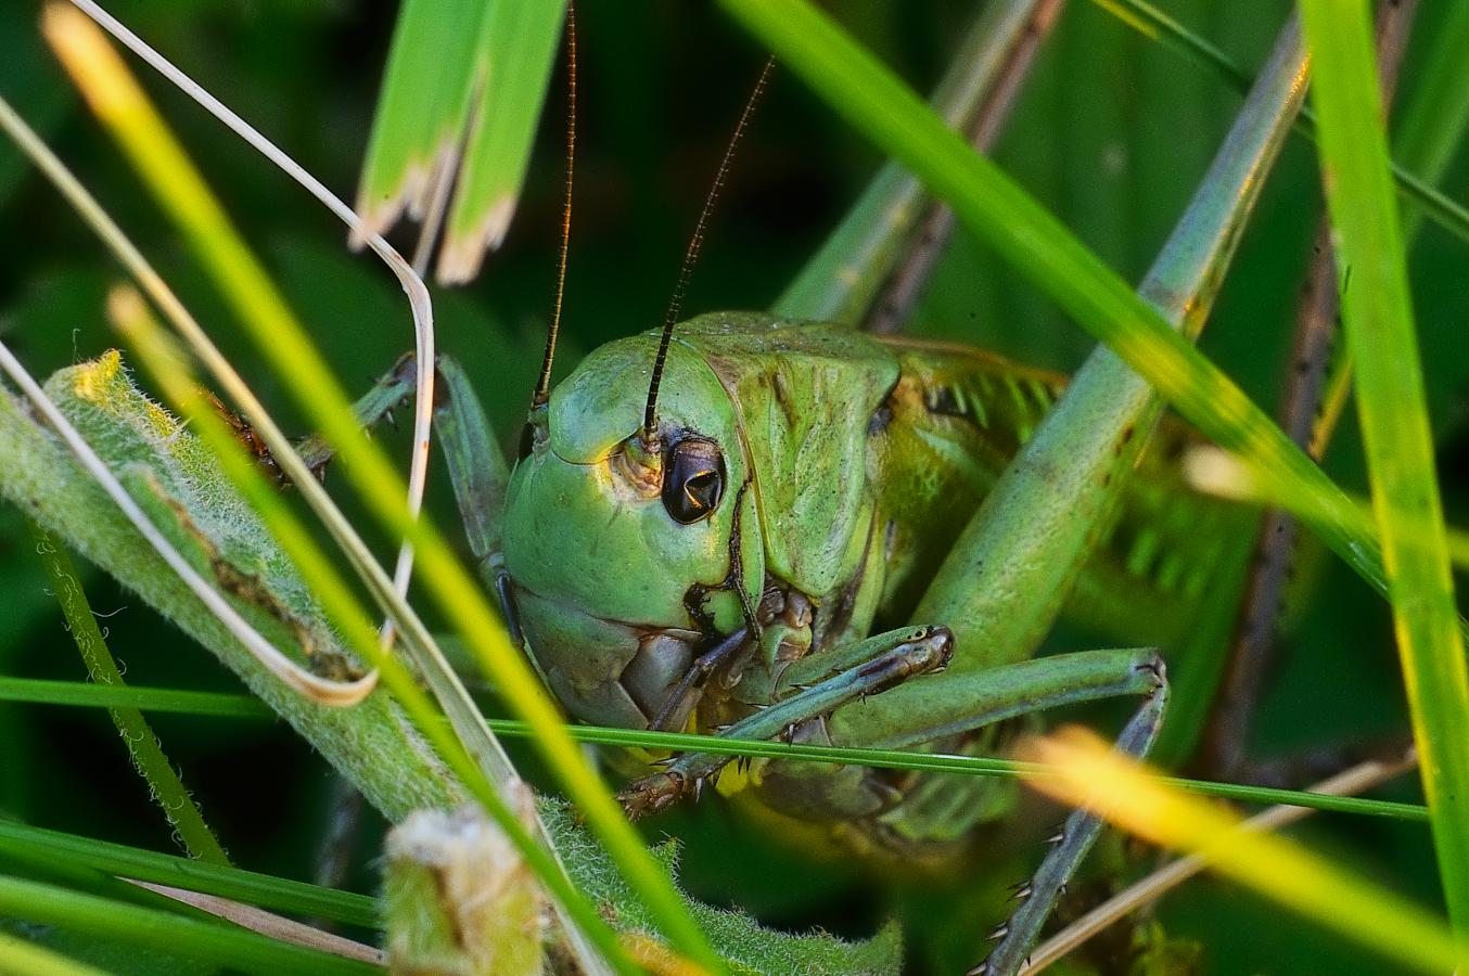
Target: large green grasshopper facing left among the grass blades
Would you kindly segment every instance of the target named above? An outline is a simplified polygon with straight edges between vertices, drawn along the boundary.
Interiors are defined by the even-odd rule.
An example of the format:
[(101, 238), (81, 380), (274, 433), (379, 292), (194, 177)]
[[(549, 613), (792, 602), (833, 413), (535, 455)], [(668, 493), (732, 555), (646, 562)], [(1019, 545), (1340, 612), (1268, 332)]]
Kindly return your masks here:
[[(1275, 98), (1271, 122), (1243, 126), (1244, 148), (1221, 154), (1221, 182), (1257, 185), (1278, 145), (1299, 98), (1288, 41), (1275, 87), (1263, 88)], [(1216, 191), (1194, 229), (1200, 267), (1213, 270), (1250, 200)], [(961, 530), (1022, 448), (1033, 464), (1064, 456), (1075, 437), (1075, 424), (1044, 423), (1059, 377), (836, 323), (754, 313), (671, 323), (605, 345), (554, 390), (548, 343), (513, 465), (469, 379), (439, 363), (436, 426), (470, 547), (570, 715), (740, 740), (975, 753), (1000, 744), (1011, 719), (1136, 697), (1116, 743), (1147, 754), (1168, 697), (1156, 650), (1031, 658), (1036, 641), (992, 643), (968, 609), (987, 552)], [(403, 399), (411, 374), (404, 360), (358, 404), (363, 418)], [(1096, 379), (1091, 396), (1137, 396), (1136, 380)], [(1234, 568), (1227, 553), (1237, 552), (1240, 514), (1183, 490), (1172, 462), (1193, 434), (1169, 423), (1152, 431), (1156, 411), (1144, 415), (1109, 456), (1114, 514), (1047, 558), (1086, 559), (1069, 609), (1091, 630), (1136, 638), (1128, 621), (1141, 618), (1156, 624), (1144, 640), (1174, 646)], [(999, 528), (1047, 552), (1044, 524)], [(995, 589), (996, 572), (1003, 591), (1003, 567), (986, 586)], [(663, 810), (698, 797), (727, 762), (661, 760), (621, 800), (632, 815)], [(809, 838), (817, 825), (848, 848), (905, 862), (952, 856), (1014, 800), (990, 781), (782, 759), (749, 762), (724, 788), (754, 798), (789, 837)], [(1075, 812), (1053, 834), (974, 973), (1019, 969), (1099, 831)]]

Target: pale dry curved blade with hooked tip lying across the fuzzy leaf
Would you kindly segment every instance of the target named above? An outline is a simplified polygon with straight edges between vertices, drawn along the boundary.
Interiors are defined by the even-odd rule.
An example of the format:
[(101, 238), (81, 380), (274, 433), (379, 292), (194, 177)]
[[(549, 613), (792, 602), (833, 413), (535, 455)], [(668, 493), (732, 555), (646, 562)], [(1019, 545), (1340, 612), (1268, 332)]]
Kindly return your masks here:
[(245, 649), (267, 668), (270, 674), (279, 678), (286, 685), (295, 688), (300, 694), (304, 694), (323, 704), (333, 706), (350, 706), (366, 697), (373, 685), (376, 684), (376, 675), (366, 675), (355, 681), (328, 681), (319, 678), (310, 671), (306, 671), (288, 656), (281, 653), (270, 641), (260, 636), (256, 628), (253, 628), (234, 606), (225, 600), (223, 596), (214, 587), (204, 581), (194, 567), (188, 564), (187, 559), (173, 547), (163, 533), (159, 531), (157, 525), (138, 508), (138, 503), (132, 500), (122, 483), (107, 470), (107, 465), (101, 462), (101, 458), (91, 449), (91, 446), (82, 439), (76, 429), (72, 427), (71, 421), (56, 408), (56, 404), (41, 390), (40, 385), (31, 374), (21, 365), (21, 361), (15, 358), (9, 346), (0, 342), (0, 370), (3, 370), (21, 392), (35, 405), (35, 408), (46, 417), (46, 421), (51, 424), (66, 446), (76, 455), (82, 467), (87, 468), (88, 474), (101, 484), (101, 487), (112, 496), (112, 500), (119, 509), (128, 517), (128, 521), (134, 524), (138, 533), (153, 546), (157, 553), (169, 564), (169, 568), (178, 574), (181, 580), (194, 591), (194, 594), (220, 619), (229, 627), (231, 633), (239, 640)]

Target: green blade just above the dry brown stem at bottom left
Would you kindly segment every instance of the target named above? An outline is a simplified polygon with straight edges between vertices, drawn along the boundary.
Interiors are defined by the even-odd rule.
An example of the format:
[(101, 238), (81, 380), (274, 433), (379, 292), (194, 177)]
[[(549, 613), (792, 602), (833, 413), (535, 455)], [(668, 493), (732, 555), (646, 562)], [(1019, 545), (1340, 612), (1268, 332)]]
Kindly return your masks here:
[(0, 820), (0, 851), (6, 850), (25, 850), (57, 863), (85, 864), (118, 878), (184, 888), (275, 911), (331, 919), (367, 929), (376, 928), (380, 922), (378, 900), (367, 895), (333, 891), (239, 867), (206, 864), (175, 854), (160, 854), (13, 820)]

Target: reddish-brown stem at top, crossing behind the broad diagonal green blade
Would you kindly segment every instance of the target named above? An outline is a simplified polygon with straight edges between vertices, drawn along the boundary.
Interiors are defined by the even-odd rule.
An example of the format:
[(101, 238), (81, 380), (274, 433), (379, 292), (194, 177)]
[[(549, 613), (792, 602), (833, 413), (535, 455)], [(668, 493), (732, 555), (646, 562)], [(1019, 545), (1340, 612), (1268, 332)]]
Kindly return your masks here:
[[(986, 92), (984, 103), (968, 129), (970, 142), (980, 153), (989, 153), (995, 147), (1009, 119), (1015, 97), (1036, 62), (1036, 54), (1061, 18), (1062, 6), (1065, 0), (1040, 0), (1006, 53), (993, 87)], [(953, 210), (948, 204), (936, 203), (928, 207), (906, 257), (893, 269), (867, 321), (862, 323), (864, 329), (884, 336), (902, 332), (902, 323), (923, 298), (933, 269), (939, 264), (949, 238), (953, 236)]]

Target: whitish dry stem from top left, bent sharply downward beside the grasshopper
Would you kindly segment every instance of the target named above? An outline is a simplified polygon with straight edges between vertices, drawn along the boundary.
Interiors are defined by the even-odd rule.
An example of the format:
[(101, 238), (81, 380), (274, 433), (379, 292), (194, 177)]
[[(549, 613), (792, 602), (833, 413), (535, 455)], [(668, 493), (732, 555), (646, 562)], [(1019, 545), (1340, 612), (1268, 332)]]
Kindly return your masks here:
[[(123, 45), (132, 50), (138, 57), (147, 62), (154, 70), (167, 78), (181, 91), (194, 98), (206, 110), (209, 110), (214, 117), (231, 128), (237, 135), (239, 135), (245, 142), (256, 148), (261, 156), (275, 163), (284, 173), (291, 176), (297, 183), (307, 189), (313, 197), (316, 197), (328, 210), (336, 214), (354, 233), (360, 235), (360, 239), (373, 250), (373, 252), (382, 258), (388, 269), (403, 285), (404, 294), (408, 296), (408, 307), (413, 314), (413, 335), (414, 335), (414, 401), (413, 401), (413, 454), (410, 455), (408, 464), (408, 487), (405, 492), (408, 512), (416, 518), (423, 508), (425, 486), (427, 484), (429, 476), (429, 443), (432, 437), (433, 427), (433, 382), (435, 382), (435, 339), (433, 339), (433, 304), (429, 298), (429, 289), (423, 285), (423, 280), (414, 273), (407, 261), (400, 255), (382, 236), (376, 233), (366, 233), (361, 230), (361, 222), (357, 214), (333, 195), (325, 183), (306, 172), (297, 164), (286, 153), (276, 147), (270, 139), (264, 138), (257, 129), (248, 125), (238, 114), (231, 112), (223, 103), (209, 94), (201, 85), (198, 85), (192, 78), (181, 72), (173, 66), (166, 57), (153, 50), (148, 44), (142, 41), (137, 34), (129, 31), (126, 25), (113, 18), (110, 13), (103, 10), (93, 0), (72, 0), (72, 3), (93, 21), (100, 23), (109, 34), (116, 37)], [(46, 22), (56, 22), (56, 16), (65, 10), (59, 4), (50, 4), (46, 9)], [(62, 18), (60, 31), (65, 34), (65, 22), (69, 18)], [(71, 34), (76, 38), (85, 35), (76, 32)], [(87, 41), (82, 41), (87, 43)], [(91, 44), (93, 53), (97, 51), (95, 43)], [(113, 59), (115, 60), (115, 59)], [(103, 57), (97, 65), (106, 70), (109, 62)], [(300, 483), (300, 481), (298, 481)], [(408, 593), (408, 580), (413, 575), (413, 546), (410, 542), (404, 542), (398, 549), (398, 562), (394, 569), (394, 586), (400, 597), (405, 597)], [(382, 641), (385, 646), (392, 643), (392, 628), (385, 624), (382, 631)]]

